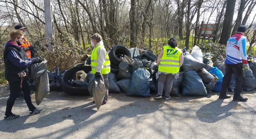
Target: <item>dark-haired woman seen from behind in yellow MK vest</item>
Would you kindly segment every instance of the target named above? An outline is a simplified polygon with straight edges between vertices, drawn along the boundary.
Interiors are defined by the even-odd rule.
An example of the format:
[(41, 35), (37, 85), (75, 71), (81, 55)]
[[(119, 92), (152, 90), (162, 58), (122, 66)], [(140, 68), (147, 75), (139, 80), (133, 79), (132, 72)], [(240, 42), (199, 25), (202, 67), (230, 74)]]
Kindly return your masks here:
[(165, 83), (165, 99), (170, 99), (170, 92), (173, 86), (173, 79), (179, 76), (180, 67), (183, 64), (183, 53), (177, 48), (177, 41), (174, 38), (168, 40), (168, 45), (164, 46), (159, 57), (157, 66), (159, 75), (157, 95), (154, 99), (162, 98)]

